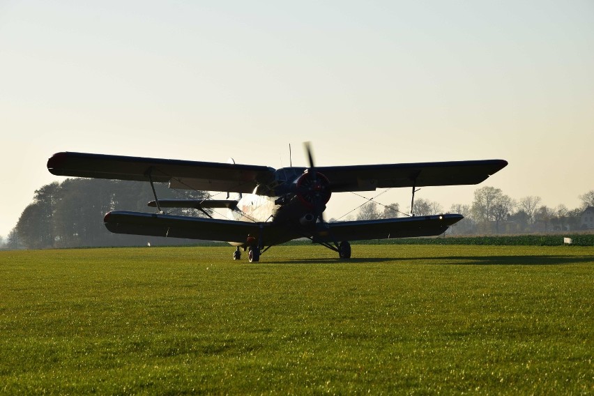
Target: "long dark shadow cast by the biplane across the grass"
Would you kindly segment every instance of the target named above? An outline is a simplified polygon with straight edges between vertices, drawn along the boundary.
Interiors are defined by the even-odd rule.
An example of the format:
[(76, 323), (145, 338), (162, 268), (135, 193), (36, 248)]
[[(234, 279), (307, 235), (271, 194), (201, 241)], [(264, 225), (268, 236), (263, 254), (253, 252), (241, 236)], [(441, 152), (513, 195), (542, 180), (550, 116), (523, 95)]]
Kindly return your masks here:
[(420, 265), (455, 266), (559, 266), (566, 264), (594, 264), (594, 256), (444, 256), (444, 257), (372, 257), (341, 260), (335, 258), (275, 260), (263, 264), (372, 264), (403, 262)]

